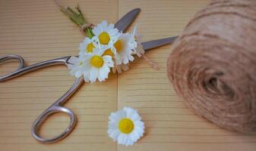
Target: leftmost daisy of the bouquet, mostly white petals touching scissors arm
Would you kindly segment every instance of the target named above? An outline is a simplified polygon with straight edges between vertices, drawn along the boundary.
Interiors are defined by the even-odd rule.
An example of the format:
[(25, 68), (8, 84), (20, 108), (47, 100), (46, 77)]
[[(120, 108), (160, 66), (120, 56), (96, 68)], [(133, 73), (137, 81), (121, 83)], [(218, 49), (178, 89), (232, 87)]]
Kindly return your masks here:
[(79, 57), (70, 57), (68, 60), (68, 69), (70, 69), (70, 75), (74, 75), (76, 78), (80, 78), (85, 70), (84, 55)]

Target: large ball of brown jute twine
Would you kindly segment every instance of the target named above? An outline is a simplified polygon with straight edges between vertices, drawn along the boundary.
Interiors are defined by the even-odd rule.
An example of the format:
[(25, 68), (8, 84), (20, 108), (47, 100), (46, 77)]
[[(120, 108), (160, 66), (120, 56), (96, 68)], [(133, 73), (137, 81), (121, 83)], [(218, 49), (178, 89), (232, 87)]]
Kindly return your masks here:
[(199, 115), (256, 131), (256, 1), (211, 2), (172, 45), (167, 66), (175, 91)]

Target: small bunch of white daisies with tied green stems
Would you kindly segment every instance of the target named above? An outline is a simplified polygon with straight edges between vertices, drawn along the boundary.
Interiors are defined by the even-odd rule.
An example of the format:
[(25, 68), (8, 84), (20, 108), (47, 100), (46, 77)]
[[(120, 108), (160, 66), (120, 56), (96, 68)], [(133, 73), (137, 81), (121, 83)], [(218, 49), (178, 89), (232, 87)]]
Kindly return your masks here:
[(81, 26), (87, 37), (81, 42), (79, 56), (71, 57), (68, 68), (70, 74), (76, 78), (84, 76), (85, 82), (103, 82), (108, 78), (110, 69), (122, 72), (128, 69), (129, 61), (133, 61), (133, 54), (138, 57), (144, 54), (141, 36), (137, 33), (137, 26), (131, 33), (122, 33), (106, 20), (96, 26), (85, 22), (83, 14), (77, 6), (77, 12), (71, 8), (62, 8), (70, 19)]

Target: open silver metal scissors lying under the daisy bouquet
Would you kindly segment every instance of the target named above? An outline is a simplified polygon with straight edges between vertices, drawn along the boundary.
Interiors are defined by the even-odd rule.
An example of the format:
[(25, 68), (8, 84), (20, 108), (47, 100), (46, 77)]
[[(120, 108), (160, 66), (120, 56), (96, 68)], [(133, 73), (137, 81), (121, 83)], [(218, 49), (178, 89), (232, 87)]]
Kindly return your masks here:
[[(125, 29), (128, 28), (128, 26), (133, 22), (133, 20), (137, 17), (137, 15), (140, 13), (140, 8), (135, 8), (132, 11), (129, 11), (128, 14), (125, 14), (124, 17), (122, 17), (117, 23), (115, 23), (115, 28), (119, 29), (120, 32), (125, 31)], [(150, 50), (152, 48), (157, 48), (162, 45), (170, 44), (172, 43), (177, 36), (169, 37), (166, 39), (157, 39), (149, 42), (142, 42), (141, 45), (143, 45), (143, 48), (145, 51)], [(0, 82), (7, 81), (9, 79), (13, 79), (17, 76), (24, 75), (27, 72), (34, 71), (36, 69), (41, 69), (46, 66), (53, 66), (58, 64), (64, 64), (65, 66), (68, 66), (69, 59), (71, 56), (67, 57), (59, 57), (57, 59), (53, 60), (46, 60), (40, 63), (35, 63), (30, 66), (25, 66), (25, 61), (23, 57), (16, 55), (16, 54), (9, 54), (0, 57), (0, 63), (4, 63), (7, 60), (18, 60), (20, 63), (20, 66), (17, 67), (14, 72), (8, 73), (7, 75), (0, 76)], [(68, 91), (62, 95), (58, 100), (55, 101), (51, 106), (49, 106), (48, 109), (46, 109), (36, 120), (33, 122), (32, 128), (31, 128), (31, 134), (32, 136), (42, 142), (42, 143), (55, 143), (58, 140), (62, 140), (63, 138), (67, 137), (68, 134), (71, 133), (71, 131), (74, 129), (74, 126), (77, 122), (77, 116), (75, 116), (74, 112), (71, 111), (71, 109), (68, 109), (64, 106), (64, 104), (67, 102), (69, 97), (71, 97), (72, 94), (74, 94), (75, 91), (77, 91), (77, 88), (81, 86), (81, 84), (84, 82), (83, 76), (81, 78), (75, 79), (74, 84), (71, 86), (71, 88), (68, 89)], [(56, 112), (63, 112), (67, 114), (70, 117), (70, 122), (68, 125), (68, 128), (65, 129), (65, 131), (62, 132), (62, 134), (52, 137), (52, 138), (44, 138), (41, 137), (39, 134), (40, 127), (43, 125), (43, 122), (46, 121), (46, 119), (49, 118), (49, 116), (52, 116), (52, 114)]]

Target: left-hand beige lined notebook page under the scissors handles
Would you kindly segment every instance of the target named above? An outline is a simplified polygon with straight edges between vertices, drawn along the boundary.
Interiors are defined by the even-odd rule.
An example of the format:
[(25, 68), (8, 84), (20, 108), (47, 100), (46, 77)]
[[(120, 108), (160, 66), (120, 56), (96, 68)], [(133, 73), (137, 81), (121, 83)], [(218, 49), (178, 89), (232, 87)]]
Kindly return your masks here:
[[(76, 5), (76, 1), (61, 1)], [(79, 2), (91, 23), (117, 19), (117, 1)], [(52, 0), (5, 0), (0, 10), (0, 55), (20, 54), (26, 63), (38, 63), (77, 55), (84, 35), (65, 17)], [(0, 74), (11, 72), (17, 63), (0, 65)], [(64, 94), (74, 82), (65, 66), (52, 66), (0, 83), (1, 150), (115, 150), (106, 134), (109, 112), (116, 109), (116, 75), (107, 82), (84, 84), (65, 104), (77, 115), (70, 136), (54, 144), (38, 143), (31, 135), (33, 121)], [(55, 115), (43, 126), (46, 137), (60, 134), (69, 118)]]

